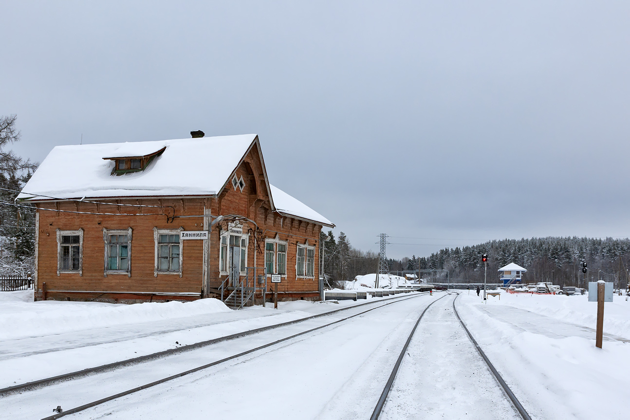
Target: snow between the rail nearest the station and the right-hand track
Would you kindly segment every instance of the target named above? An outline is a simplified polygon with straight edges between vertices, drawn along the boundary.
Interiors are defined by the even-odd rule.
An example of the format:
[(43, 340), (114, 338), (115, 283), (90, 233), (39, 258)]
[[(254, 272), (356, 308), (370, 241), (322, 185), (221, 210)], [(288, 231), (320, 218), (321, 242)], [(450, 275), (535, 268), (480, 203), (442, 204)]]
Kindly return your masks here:
[[(411, 296), (401, 298), (408, 297)], [(327, 402), (345, 389), (349, 379), (362, 375), (364, 379), (375, 380), (360, 380), (357, 384), (373, 388), (374, 392), (364, 394), (365, 401), (353, 402), (344, 417), (356, 418), (352, 412), (370, 411), (368, 402), (387, 380), (387, 367), (398, 356), (396, 349), (399, 351), (403, 345), (418, 311), (432, 299), (435, 297), (415, 294), (408, 301), (396, 302), (282, 345), (129, 395), (77, 417), (205, 418), (212, 413), (215, 418), (245, 418), (260, 417), (262, 413), (263, 418), (310, 419), (318, 416)], [(365, 310), (348, 309), (326, 319), (316, 318), (167, 359), (8, 395), (0, 399), (0, 411), (11, 418), (41, 418), (37, 416), (47, 414), (50, 407), (60, 405), (67, 409), (94, 401), (305, 331), (359, 309)], [(281, 403), (273, 410), (263, 410), (274, 401)], [(329, 412), (327, 416), (324, 417), (340, 418), (338, 412)]]

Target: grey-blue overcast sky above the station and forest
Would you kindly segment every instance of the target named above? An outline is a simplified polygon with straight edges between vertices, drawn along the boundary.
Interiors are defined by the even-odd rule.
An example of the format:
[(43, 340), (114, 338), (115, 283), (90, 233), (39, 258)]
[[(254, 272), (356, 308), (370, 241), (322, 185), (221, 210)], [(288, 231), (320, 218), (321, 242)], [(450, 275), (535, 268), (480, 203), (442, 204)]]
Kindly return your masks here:
[[(257, 133), (351, 243), (630, 235), (627, 1), (2, 1), (16, 152)], [(208, 156), (208, 163), (221, 156)], [(69, 176), (81, 176), (71, 173)]]

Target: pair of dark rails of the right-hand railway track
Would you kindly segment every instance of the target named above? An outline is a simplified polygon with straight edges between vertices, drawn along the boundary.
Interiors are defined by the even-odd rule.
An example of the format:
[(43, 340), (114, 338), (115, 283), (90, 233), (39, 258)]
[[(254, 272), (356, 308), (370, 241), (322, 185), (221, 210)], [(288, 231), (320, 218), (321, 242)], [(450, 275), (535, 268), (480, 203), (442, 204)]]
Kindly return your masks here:
[[(466, 331), (466, 334), (467, 334), (468, 338), (472, 341), (474, 347), (476, 348), (476, 350), (479, 353), (479, 356), (481, 356), (481, 358), (483, 358), (484, 362), (488, 366), (488, 369), (492, 373), (493, 377), (496, 379), (496, 382), (498, 382), (498, 384), (501, 386), (501, 389), (503, 390), (504, 394), (509, 399), (509, 401), (511, 402), (512, 406), (514, 407), (514, 409), (518, 412), (518, 414), (520, 414), (520, 416), (524, 420), (531, 420), (531, 417), (529, 416), (527, 411), (525, 411), (525, 408), (522, 406), (522, 404), (520, 404), (520, 402), (518, 401), (516, 395), (514, 395), (514, 393), (510, 389), (510, 387), (507, 385), (507, 383), (503, 379), (503, 377), (501, 377), (501, 374), (496, 370), (496, 368), (490, 362), (490, 359), (488, 359), (488, 356), (486, 356), (486, 354), (483, 352), (483, 350), (481, 350), (481, 347), (478, 345), (477, 341), (474, 339), (473, 334), (471, 334), (469, 329), (466, 327), (466, 324), (464, 324), (464, 321), (462, 321), (461, 317), (459, 316), (459, 313), (457, 312), (457, 308), (455, 307), (455, 301), (457, 300), (457, 297), (459, 297), (459, 293), (457, 293), (457, 292), (447, 292), (447, 295), (440, 297), (440, 299), (442, 299), (442, 298), (444, 298), (446, 296), (450, 296), (452, 294), (457, 295), (457, 296), (455, 296), (455, 299), (453, 299), (453, 311), (455, 312), (455, 316), (457, 316), (457, 319), (458, 319), (459, 323), (461, 324), (462, 328), (464, 328), (464, 331)], [(401, 366), (401, 363), (403, 362), (404, 355), (405, 355), (405, 353), (407, 351), (407, 348), (408, 348), (408, 346), (409, 346), (409, 344), (411, 342), (411, 339), (413, 338), (413, 335), (416, 332), (416, 328), (418, 328), (418, 324), (420, 324), (421, 319), (423, 318), (423, 316), (425, 315), (425, 312), (427, 312), (429, 307), (432, 306), (432, 304), (434, 304), (435, 302), (439, 301), (440, 299), (437, 299), (437, 300), (431, 302), (431, 304), (429, 304), (425, 308), (425, 310), (420, 314), (420, 317), (418, 317), (418, 321), (416, 321), (416, 324), (415, 324), (414, 328), (411, 330), (411, 333), (409, 334), (409, 336), (407, 338), (407, 341), (406, 341), (405, 345), (403, 346), (403, 350), (401, 350), (401, 353), (398, 356), (398, 360), (396, 361), (396, 364), (392, 368), (391, 375), (389, 375), (389, 380), (387, 380), (387, 383), (386, 383), (386, 385), (385, 385), (385, 387), (384, 387), (384, 389), (383, 389), (383, 391), (381, 393), (381, 397), (379, 397), (379, 400), (377, 401), (377, 404), (374, 407), (374, 411), (372, 412), (372, 416), (370, 417), (370, 420), (377, 420), (377, 419), (379, 419), (379, 416), (381, 416), (382, 409), (383, 409), (383, 407), (385, 406), (385, 404), (387, 402), (387, 396), (389, 395), (389, 392), (392, 389), (392, 385), (394, 384), (394, 380), (396, 379), (396, 375), (397, 375), (398, 370), (399, 370), (399, 368)]]

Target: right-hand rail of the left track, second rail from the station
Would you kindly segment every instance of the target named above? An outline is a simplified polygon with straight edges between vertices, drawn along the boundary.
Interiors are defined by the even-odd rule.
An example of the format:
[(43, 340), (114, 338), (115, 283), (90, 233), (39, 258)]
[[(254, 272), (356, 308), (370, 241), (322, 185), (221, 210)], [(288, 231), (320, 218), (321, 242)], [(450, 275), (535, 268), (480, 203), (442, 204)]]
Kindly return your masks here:
[[(202, 365), (202, 366), (199, 366), (199, 367), (196, 367), (196, 368), (192, 368), (192, 369), (186, 370), (185, 372), (176, 373), (175, 375), (171, 375), (169, 377), (166, 377), (166, 378), (163, 378), (163, 379), (159, 379), (159, 380), (156, 380), (154, 382), (150, 382), (149, 384), (140, 385), (139, 387), (135, 387), (135, 388), (123, 391), (123, 392), (118, 392), (118, 394), (110, 395), (109, 397), (101, 398), (100, 400), (89, 402), (88, 404), (83, 404), (83, 406), (74, 407), (74, 408), (69, 409), (67, 411), (64, 410), (64, 411), (59, 412), (57, 414), (53, 414), (52, 416), (43, 417), (42, 420), (59, 419), (60, 417), (67, 416), (68, 414), (74, 414), (76, 412), (80, 412), (80, 411), (83, 411), (85, 409), (98, 406), (100, 404), (103, 404), (104, 402), (112, 401), (114, 399), (117, 399), (117, 398), (120, 398), (120, 397), (124, 397), (125, 395), (134, 394), (135, 392), (138, 392), (138, 391), (143, 390), (143, 389), (151, 388), (151, 387), (154, 387), (154, 386), (159, 385), (159, 384), (164, 384), (164, 382), (168, 382), (169, 380), (177, 379), (177, 378), (183, 377), (184, 375), (188, 375), (190, 373), (198, 372), (200, 370), (203, 370), (203, 369), (206, 369), (206, 368), (209, 368), (209, 367), (213, 367), (213, 366), (219, 365), (221, 363), (228, 362), (229, 360), (232, 360), (232, 359), (235, 359), (235, 358), (239, 358), (241, 356), (248, 355), (249, 353), (253, 353), (253, 352), (258, 351), (258, 350), (263, 350), (264, 348), (268, 348), (270, 346), (277, 345), (278, 343), (282, 343), (284, 341), (291, 340), (292, 338), (299, 337), (299, 336), (302, 336), (304, 334), (312, 333), (313, 331), (317, 331), (318, 329), (326, 328), (328, 326), (331, 326), (331, 325), (334, 325), (334, 324), (338, 324), (338, 323), (341, 323), (343, 321), (347, 321), (350, 318), (355, 318), (355, 316), (359, 316), (359, 315), (365, 314), (366, 312), (374, 311), (374, 309), (379, 309), (381, 307), (384, 307), (384, 306), (387, 306), (387, 305), (391, 305), (391, 304), (394, 304), (394, 303), (398, 303), (398, 302), (408, 301), (409, 299), (414, 299), (415, 297), (420, 297), (420, 296), (426, 296), (426, 295), (418, 294), (418, 295), (415, 295), (415, 296), (408, 297), (407, 299), (399, 299), (399, 300), (390, 299), (392, 302), (387, 302), (384, 305), (372, 307), (370, 309), (367, 309), (366, 311), (359, 312), (358, 314), (354, 314), (354, 315), (348, 316), (346, 318), (341, 318), (341, 319), (338, 319), (337, 321), (333, 321), (333, 322), (328, 323), (328, 324), (324, 324), (324, 325), (321, 325), (321, 326), (318, 326), (318, 327), (315, 327), (315, 328), (311, 328), (311, 329), (308, 329), (307, 331), (302, 331), (301, 333), (293, 334), (293, 335), (285, 337), (285, 338), (280, 338), (280, 340), (272, 341), (272, 343), (267, 343), (265, 345), (261, 345), (261, 346), (258, 346), (256, 348), (250, 349), (250, 350), (242, 351), (241, 353), (238, 353), (236, 355), (228, 356), (226, 358), (222, 358), (221, 360), (217, 360), (217, 361), (212, 362), (212, 363), (207, 363), (206, 365)], [(444, 296), (442, 296), (442, 297), (444, 297)], [(440, 297), (439, 299), (442, 299), (442, 297)], [(436, 299), (436, 301), (438, 301), (439, 299)], [(433, 302), (435, 302), (435, 301), (433, 301)], [(431, 302), (429, 304), (429, 306), (431, 306), (433, 304), (433, 302)], [(353, 307), (356, 307), (356, 306), (353, 306)], [(427, 308), (428, 308), (428, 306), (427, 306)], [(336, 309), (335, 311), (340, 311), (340, 309)], [(427, 311), (427, 309), (425, 309), (425, 312), (426, 311)], [(327, 313), (330, 313), (330, 312), (327, 312)], [(422, 313), (424, 314), (424, 312), (422, 312)], [(313, 318), (313, 317), (309, 317), (309, 318)], [(417, 324), (416, 324), (416, 326), (417, 326)]]

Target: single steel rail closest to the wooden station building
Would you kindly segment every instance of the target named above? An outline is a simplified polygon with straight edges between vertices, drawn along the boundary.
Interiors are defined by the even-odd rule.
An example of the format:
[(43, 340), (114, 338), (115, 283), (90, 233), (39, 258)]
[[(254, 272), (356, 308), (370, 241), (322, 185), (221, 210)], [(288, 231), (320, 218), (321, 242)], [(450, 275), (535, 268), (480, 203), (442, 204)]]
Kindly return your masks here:
[[(427, 292), (420, 292), (420, 294), (415, 294), (414, 296), (411, 296), (411, 297), (424, 296), (425, 294), (427, 294)], [(321, 314), (315, 314), (315, 315), (307, 316), (306, 318), (299, 318), (299, 319), (294, 319), (293, 321), (287, 321), (287, 322), (284, 322), (284, 323), (268, 325), (268, 326), (265, 326), (265, 327), (260, 327), (260, 328), (255, 328), (255, 329), (248, 329), (247, 331), (242, 331), (241, 333), (234, 333), (234, 334), (230, 334), (230, 335), (219, 337), (219, 338), (213, 338), (212, 340), (205, 340), (205, 341), (200, 341), (198, 343), (193, 343), (193, 344), (189, 344), (189, 345), (185, 345), (185, 346), (180, 346), (180, 347), (176, 347), (176, 348), (170, 348), (168, 350), (157, 351), (156, 353), (151, 353), (149, 355), (144, 355), (144, 356), (138, 356), (138, 357), (134, 357), (134, 358), (126, 359), (126, 360), (121, 360), (120, 362), (107, 363), (105, 365), (100, 365), (100, 366), (91, 367), (91, 368), (85, 368), (83, 370), (77, 370), (76, 372), (63, 373), (62, 375), (56, 375), (54, 377), (33, 380), (31, 382), (26, 382), (25, 384), (13, 385), (11, 387), (6, 387), (6, 388), (3, 388), (3, 389), (0, 389), (0, 396), (6, 395), (6, 394), (13, 394), (14, 392), (28, 390), (28, 389), (32, 389), (32, 388), (36, 388), (36, 387), (43, 387), (43, 386), (47, 386), (47, 385), (52, 385), (52, 384), (55, 384), (56, 382), (66, 381), (66, 380), (69, 380), (69, 379), (75, 379), (77, 377), (83, 377), (83, 376), (89, 375), (91, 373), (101, 373), (101, 372), (105, 372), (107, 370), (113, 370), (113, 369), (116, 369), (116, 368), (119, 368), (119, 367), (123, 367), (123, 366), (127, 366), (127, 365), (134, 365), (136, 363), (148, 362), (149, 360), (153, 360), (153, 359), (156, 359), (156, 358), (161, 358), (161, 357), (164, 357), (164, 356), (170, 356), (170, 355), (174, 355), (174, 354), (177, 354), (177, 353), (183, 353), (184, 351), (195, 350), (195, 349), (200, 348), (200, 347), (205, 347), (205, 346), (213, 345), (213, 344), (216, 344), (216, 343), (221, 343), (222, 341), (234, 340), (236, 338), (241, 338), (241, 337), (245, 337), (245, 336), (248, 336), (248, 335), (262, 333), (262, 332), (268, 331), (270, 329), (275, 329), (275, 328), (280, 328), (280, 327), (284, 327), (284, 326), (291, 325), (291, 324), (301, 323), (301, 322), (304, 322), (304, 321), (308, 321), (309, 319), (319, 318), (319, 317), (322, 317), (322, 316), (328, 316), (330, 314), (334, 314), (334, 313), (340, 312), (340, 311), (345, 311), (347, 309), (352, 309), (354, 307), (364, 306), (364, 305), (367, 305), (367, 304), (374, 304), (374, 303), (383, 302), (383, 301), (392, 301), (394, 299), (398, 299), (398, 301), (406, 301), (407, 299), (411, 299), (411, 297), (406, 297), (407, 299), (399, 299), (400, 297), (403, 297), (403, 296), (389, 297), (387, 299), (383, 299), (382, 301), (379, 300), (377, 302), (374, 302), (374, 301), (372, 301), (372, 302), (364, 302), (364, 303), (360, 303), (360, 304), (357, 304), (357, 305), (342, 307), (340, 309), (334, 309), (333, 311), (323, 312)]]

